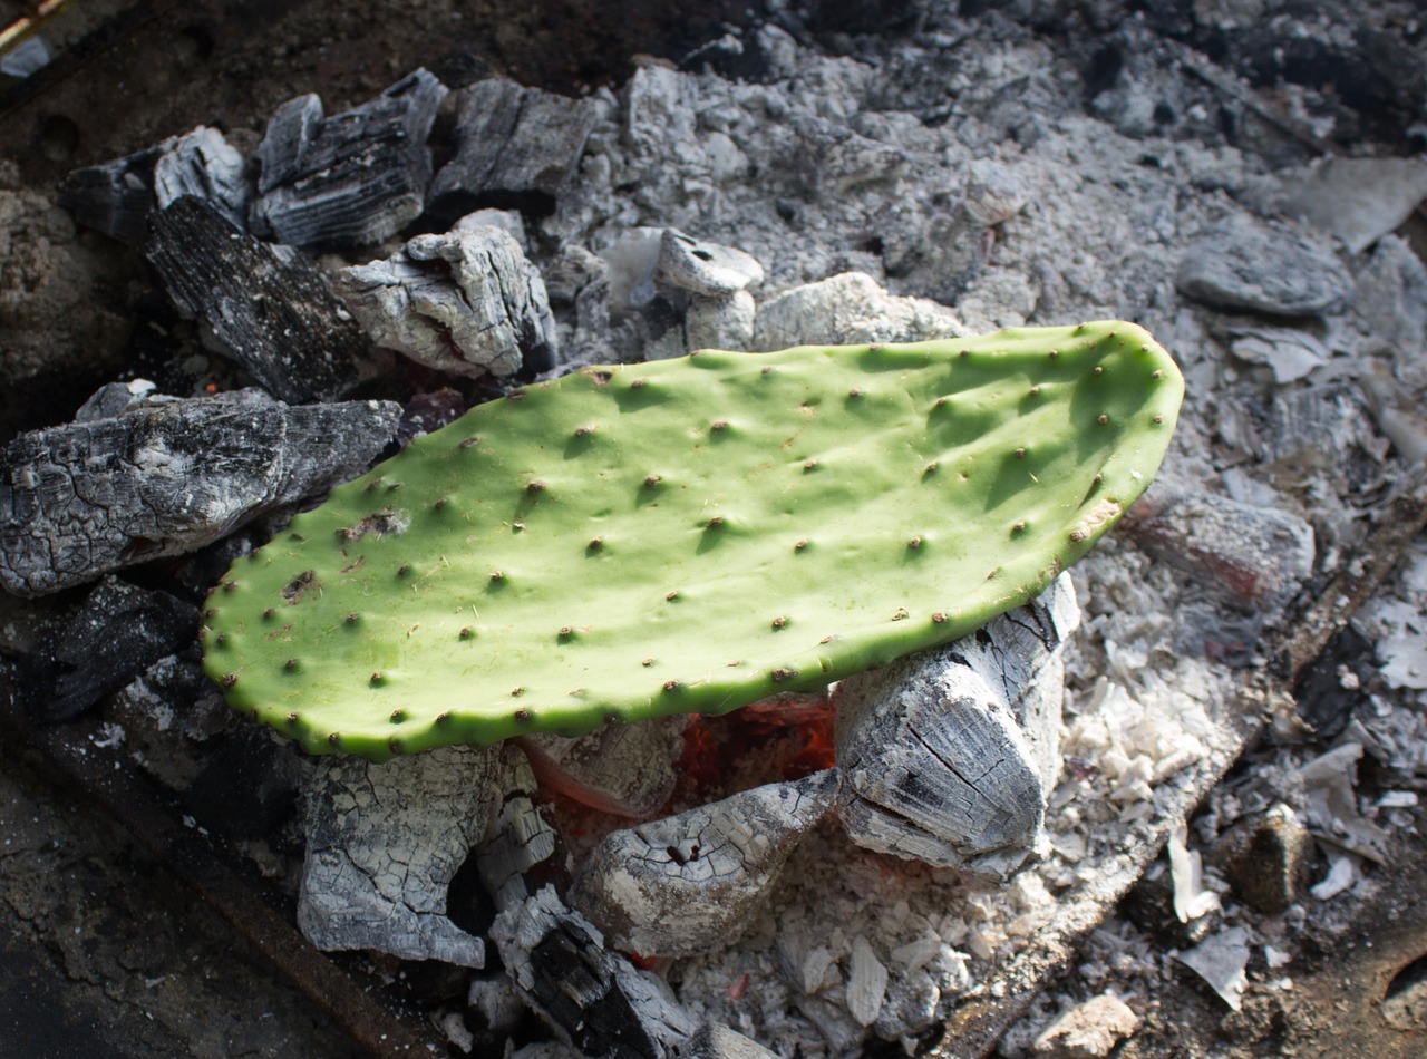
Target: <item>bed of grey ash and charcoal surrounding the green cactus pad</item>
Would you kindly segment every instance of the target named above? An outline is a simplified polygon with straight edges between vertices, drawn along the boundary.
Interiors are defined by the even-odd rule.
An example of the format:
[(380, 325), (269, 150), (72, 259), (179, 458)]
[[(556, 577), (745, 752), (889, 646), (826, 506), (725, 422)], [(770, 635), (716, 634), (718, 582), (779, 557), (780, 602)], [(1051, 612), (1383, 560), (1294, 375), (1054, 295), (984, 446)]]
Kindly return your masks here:
[[(418, 70), (71, 174), (156, 291), (126, 381), (3, 452), (27, 714), (97, 715), (313, 945), (458, 969), (428, 1010), (458, 1052), (1154, 1053), (1166, 983), (1290, 1006), (1427, 776), (1427, 166), (1391, 157), (1421, 66), (1360, 14), (1042, 7), (785, 11), (578, 100)], [(1398, 60), (1357, 96), (1271, 67), (1353, 31)], [(1184, 368), (1160, 481), (945, 649), (387, 765), (274, 744), (201, 677), (233, 558), (521, 381), (1102, 317)]]

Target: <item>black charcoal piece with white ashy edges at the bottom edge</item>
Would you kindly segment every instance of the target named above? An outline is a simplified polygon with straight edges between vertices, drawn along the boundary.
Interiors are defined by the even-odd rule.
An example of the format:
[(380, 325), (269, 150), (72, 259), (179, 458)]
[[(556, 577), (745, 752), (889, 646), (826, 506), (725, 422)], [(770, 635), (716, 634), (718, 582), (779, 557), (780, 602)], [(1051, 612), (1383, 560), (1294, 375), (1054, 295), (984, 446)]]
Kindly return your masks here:
[(525, 1002), (579, 1055), (686, 1055), (694, 1018), (661, 979), (605, 948), (552, 886), (497, 915), (491, 941)]

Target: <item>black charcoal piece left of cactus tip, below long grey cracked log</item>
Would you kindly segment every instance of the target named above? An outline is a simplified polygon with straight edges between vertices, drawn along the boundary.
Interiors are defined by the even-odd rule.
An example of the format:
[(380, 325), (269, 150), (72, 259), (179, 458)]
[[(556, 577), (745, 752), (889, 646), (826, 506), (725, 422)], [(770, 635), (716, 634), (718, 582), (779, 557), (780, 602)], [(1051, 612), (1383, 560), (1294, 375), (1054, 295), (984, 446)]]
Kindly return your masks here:
[(70, 721), (193, 641), (197, 628), (193, 604), (104, 578), (63, 632), (23, 661), (21, 704), (34, 721)]

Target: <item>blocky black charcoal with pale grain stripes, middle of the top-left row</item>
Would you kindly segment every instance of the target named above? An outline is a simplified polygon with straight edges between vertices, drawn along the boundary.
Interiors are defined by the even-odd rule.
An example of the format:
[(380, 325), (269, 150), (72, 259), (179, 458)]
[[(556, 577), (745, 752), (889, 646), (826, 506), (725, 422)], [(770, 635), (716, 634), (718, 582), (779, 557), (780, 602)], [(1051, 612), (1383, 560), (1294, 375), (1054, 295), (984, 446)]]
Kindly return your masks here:
[(253, 230), (294, 247), (381, 243), (421, 216), (431, 183), (427, 137), (447, 87), (425, 70), (327, 117), (317, 96), (268, 121)]

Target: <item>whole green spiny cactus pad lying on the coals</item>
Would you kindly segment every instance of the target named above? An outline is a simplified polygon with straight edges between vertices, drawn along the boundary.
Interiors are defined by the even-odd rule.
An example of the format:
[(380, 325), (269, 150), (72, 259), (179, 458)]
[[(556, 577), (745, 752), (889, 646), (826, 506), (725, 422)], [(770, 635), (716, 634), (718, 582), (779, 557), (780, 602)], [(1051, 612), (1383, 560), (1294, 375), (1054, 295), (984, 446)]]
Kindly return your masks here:
[(585, 368), (238, 559), (205, 667), (374, 761), (722, 714), (1033, 598), (1144, 491), (1182, 395), (1124, 323)]

